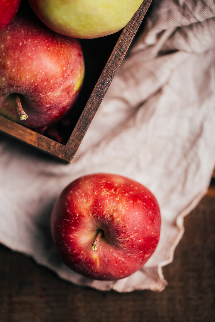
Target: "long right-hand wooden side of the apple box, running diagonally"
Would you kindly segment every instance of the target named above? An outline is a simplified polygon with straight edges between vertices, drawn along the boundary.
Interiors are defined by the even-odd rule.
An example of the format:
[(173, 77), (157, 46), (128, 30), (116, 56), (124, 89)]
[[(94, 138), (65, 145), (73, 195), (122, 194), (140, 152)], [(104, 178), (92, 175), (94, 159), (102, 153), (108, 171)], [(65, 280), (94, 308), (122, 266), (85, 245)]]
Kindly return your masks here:
[[(132, 43), (132, 40), (136, 35), (138, 28), (149, 8), (149, 5), (151, 4), (151, 1), (152, 0), (143, 1), (142, 5), (140, 5), (137, 12), (134, 14), (129, 23), (124, 27), (121, 35), (119, 36), (119, 39), (116, 45), (114, 46), (114, 49), (108, 59), (108, 62), (106, 63), (87, 101), (87, 104), (83, 112), (81, 113), (81, 116), (78, 119), (77, 124), (66, 144), (67, 155), (69, 156), (70, 162), (72, 162), (77, 152), (77, 149), (97, 112), (97, 109), (99, 108), (114, 76), (116, 75), (118, 68), (121, 62), (123, 61), (123, 58), (125, 57), (128, 48)], [(98, 93), (99, 95), (97, 95)]]

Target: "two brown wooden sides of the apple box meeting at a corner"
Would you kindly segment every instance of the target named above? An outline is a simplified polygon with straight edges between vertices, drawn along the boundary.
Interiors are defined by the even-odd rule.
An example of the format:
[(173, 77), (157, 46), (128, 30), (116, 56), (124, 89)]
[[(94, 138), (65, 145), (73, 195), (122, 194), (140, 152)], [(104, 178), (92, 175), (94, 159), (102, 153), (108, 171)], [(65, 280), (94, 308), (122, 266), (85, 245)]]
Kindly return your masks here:
[[(90, 97), (88, 96), (88, 101), (83, 108), (83, 112), (74, 125), (74, 128), (71, 128), (71, 135), (66, 145), (60, 144), (53, 139), (39, 134), (34, 130), (28, 129), (21, 124), (17, 124), (12, 120), (6, 119), (3, 116), (0, 116), (0, 131), (9, 134), (12, 137), (18, 138), (21, 141), (37, 147), (45, 152), (48, 152), (51, 155), (57, 156), (60, 159), (71, 162), (93, 117), (97, 112), (99, 105), (102, 102), (102, 99), (105, 96), (105, 93), (108, 90), (111, 81), (113, 80), (126, 52), (128, 51), (135, 34), (137, 33), (137, 30), (148, 10), (150, 3), (151, 0), (144, 0), (133, 18), (122, 30), (118, 41), (115, 43), (116, 45), (108, 59), (108, 62), (106, 63), (100, 77), (97, 80), (95, 88), (93, 89)], [(118, 36), (118, 33), (116, 36)], [(115, 35), (109, 38), (108, 37), (109, 36), (104, 37), (103, 39), (104, 41), (108, 42), (109, 46), (112, 46), (112, 42), (115, 40)], [(101, 42), (103, 42), (103, 48), (105, 48), (103, 39), (101, 39)], [(90, 46), (90, 41), (92, 43), (97, 42), (97, 40), (87, 40), (86, 44), (88, 46)], [(98, 65), (97, 71), (99, 71), (100, 62), (98, 62)], [(90, 82), (90, 78), (87, 81)], [(91, 84), (86, 84), (87, 89), (90, 88), (90, 85)]]

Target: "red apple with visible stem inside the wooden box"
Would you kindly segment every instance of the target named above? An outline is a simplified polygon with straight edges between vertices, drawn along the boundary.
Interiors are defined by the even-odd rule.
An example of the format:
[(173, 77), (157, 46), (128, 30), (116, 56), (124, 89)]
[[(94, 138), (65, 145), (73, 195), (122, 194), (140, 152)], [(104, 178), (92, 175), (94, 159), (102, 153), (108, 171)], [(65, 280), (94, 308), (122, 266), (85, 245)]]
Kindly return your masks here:
[(55, 122), (70, 109), (84, 77), (79, 41), (17, 14), (0, 33), (0, 114), (31, 128)]

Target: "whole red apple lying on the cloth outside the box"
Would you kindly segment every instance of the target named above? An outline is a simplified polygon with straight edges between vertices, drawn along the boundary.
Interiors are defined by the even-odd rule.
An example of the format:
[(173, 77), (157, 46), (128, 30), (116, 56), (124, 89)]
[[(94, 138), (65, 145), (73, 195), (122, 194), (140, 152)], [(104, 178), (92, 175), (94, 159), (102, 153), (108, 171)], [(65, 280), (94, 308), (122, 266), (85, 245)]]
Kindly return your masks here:
[(83, 176), (60, 194), (51, 231), (62, 260), (92, 279), (124, 278), (145, 264), (160, 235), (154, 195), (119, 175)]

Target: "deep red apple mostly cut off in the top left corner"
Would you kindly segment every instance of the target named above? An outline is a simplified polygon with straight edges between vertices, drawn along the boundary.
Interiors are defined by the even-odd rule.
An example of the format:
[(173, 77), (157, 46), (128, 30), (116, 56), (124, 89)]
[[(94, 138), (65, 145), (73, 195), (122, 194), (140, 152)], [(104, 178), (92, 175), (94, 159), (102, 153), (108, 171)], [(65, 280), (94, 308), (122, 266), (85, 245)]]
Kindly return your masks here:
[(14, 19), (21, 0), (0, 0), (0, 32)]

